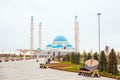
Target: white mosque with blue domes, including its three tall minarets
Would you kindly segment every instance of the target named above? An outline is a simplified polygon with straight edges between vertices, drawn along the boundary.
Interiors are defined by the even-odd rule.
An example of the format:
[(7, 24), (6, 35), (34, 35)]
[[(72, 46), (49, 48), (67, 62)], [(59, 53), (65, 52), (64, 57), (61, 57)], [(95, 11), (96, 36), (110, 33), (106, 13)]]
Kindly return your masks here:
[[(55, 37), (52, 43), (47, 44), (46, 49), (40, 54), (50, 54), (52, 56), (58, 56), (58, 55), (65, 55), (67, 53), (79, 52), (79, 22), (77, 21), (77, 16), (75, 16), (75, 34), (74, 34), (74, 40), (75, 40), (75, 48), (73, 48), (73, 45), (71, 45), (68, 40), (62, 36), (58, 35)], [(34, 21), (33, 16), (31, 17), (30, 22), (30, 50), (34, 50)], [(41, 50), (41, 23), (39, 23), (39, 32), (38, 32), (38, 48), (37, 51)]]

